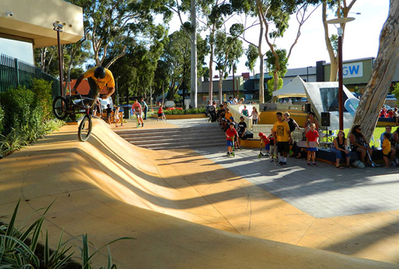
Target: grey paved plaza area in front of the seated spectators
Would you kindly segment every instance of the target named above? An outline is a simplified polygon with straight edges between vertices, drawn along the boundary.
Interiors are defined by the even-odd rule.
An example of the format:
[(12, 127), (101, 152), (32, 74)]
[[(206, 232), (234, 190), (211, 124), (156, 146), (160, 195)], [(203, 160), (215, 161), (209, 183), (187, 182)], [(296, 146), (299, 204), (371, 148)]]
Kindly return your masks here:
[(258, 158), (259, 149), (238, 150), (235, 158), (225, 147), (197, 152), (315, 218), (399, 209), (399, 168), (337, 169), (320, 161), (308, 167), (295, 158), (281, 167)]

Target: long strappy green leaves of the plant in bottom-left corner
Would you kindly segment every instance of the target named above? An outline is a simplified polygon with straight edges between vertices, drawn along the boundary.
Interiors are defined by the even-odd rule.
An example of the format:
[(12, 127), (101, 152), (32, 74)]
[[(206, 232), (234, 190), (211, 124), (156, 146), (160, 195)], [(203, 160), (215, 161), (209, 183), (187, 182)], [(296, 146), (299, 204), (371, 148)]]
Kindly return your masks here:
[[(13, 215), (8, 224), (0, 222), (0, 268), (32, 268), (32, 269), (61, 269), (66, 268), (71, 263), (70, 258), (74, 254), (71, 248), (74, 246), (71, 241), (78, 239), (72, 237), (69, 240), (63, 240), (63, 233), (58, 240), (58, 244), (54, 250), (50, 249), (49, 234), (46, 230), (45, 245), (43, 248), (37, 248), (39, 236), (42, 235), (41, 229), (46, 213), (50, 209), (48, 207), (39, 208), (31, 215), (24, 218), (21, 223), (16, 224), (17, 212), (20, 200), (14, 209)], [(29, 227), (25, 225), (34, 215), (40, 215)], [(1, 220), (1, 219), (0, 219)], [(32, 221), (29, 221), (32, 222)], [(82, 269), (91, 269), (90, 260), (93, 256), (103, 249), (105, 246), (122, 239), (135, 239), (131, 237), (121, 237), (113, 240), (101, 248), (97, 249), (93, 254), (89, 254), (89, 241), (87, 235), (82, 235), (81, 261)], [(75, 267), (74, 267), (75, 268)], [(104, 269), (105, 267), (101, 267)], [(112, 264), (111, 253), (108, 247), (108, 265), (107, 269), (116, 269), (116, 265)]]

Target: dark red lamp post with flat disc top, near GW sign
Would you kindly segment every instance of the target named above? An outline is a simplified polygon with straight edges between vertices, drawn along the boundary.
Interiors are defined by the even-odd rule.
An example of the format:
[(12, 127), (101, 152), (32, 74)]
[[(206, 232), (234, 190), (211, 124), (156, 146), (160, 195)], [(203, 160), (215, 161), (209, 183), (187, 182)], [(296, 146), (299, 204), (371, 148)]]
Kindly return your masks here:
[[(327, 21), (329, 24), (339, 23), (340, 25), (343, 23), (347, 23), (349, 21), (354, 20), (353, 17), (341, 17), (334, 18)], [(342, 34), (343, 30), (341, 27), (338, 27), (338, 103), (339, 103), (339, 130), (344, 130), (344, 83), (343, 83), (343, 74), (342, 74)]]

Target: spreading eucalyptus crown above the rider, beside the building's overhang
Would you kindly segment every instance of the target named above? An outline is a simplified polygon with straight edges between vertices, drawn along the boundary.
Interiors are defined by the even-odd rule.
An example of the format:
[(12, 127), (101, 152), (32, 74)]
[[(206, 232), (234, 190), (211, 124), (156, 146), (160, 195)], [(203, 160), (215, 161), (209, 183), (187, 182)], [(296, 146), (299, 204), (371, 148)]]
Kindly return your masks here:
[[(155, 27), (156, 14), (162, 14), (168, 21), (172, 12), (164, 0), (68, 0), (83, 7), (85, 36), (91, 41), (96, 66), (111, 66), (126, 52), (126, 41), (130, 38), (149, 37)], [(113, 58), (107, 56), (115, 44), (121, 44)]]

